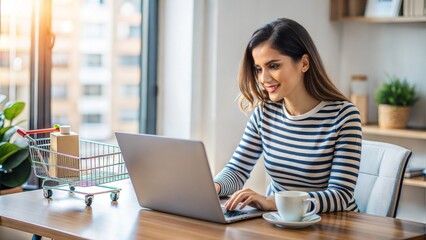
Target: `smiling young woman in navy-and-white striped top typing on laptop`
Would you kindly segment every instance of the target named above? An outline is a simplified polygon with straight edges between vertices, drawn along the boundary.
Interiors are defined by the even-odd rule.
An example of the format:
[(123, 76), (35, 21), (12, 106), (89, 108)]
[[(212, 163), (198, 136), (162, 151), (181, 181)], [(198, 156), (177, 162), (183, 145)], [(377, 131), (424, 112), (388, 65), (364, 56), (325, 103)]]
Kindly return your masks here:
[[(232, 194), (225, 208), (276, 210), (274, 193), (298, 190), (317, 199), (319, 212), (358, 211), (359, 112), (327, 76), (306, 29), (281, 18), (255, 31), (239, 87), (241, 109), (253, 113), (215, 177), (218, 194)], [(242, 189), (262, 153), (270, 177), (266, 196)]]

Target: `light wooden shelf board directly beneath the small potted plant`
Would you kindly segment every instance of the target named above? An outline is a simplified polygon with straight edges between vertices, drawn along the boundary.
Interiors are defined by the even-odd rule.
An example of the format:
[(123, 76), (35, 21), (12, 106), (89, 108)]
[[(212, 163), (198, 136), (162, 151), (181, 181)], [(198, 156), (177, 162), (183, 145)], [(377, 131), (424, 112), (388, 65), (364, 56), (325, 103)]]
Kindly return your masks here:
[(381, 129), (377, 125), (363, 125), (362, 133), (426, 140), (425, 129)]

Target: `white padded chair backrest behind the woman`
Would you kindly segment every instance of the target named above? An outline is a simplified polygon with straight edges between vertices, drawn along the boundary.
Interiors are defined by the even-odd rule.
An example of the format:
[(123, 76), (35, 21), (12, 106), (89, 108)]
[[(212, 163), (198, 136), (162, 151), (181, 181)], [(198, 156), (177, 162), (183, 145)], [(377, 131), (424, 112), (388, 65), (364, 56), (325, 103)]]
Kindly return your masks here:
[(411, 151), (374, 141), (362, 141), (355, 200), (363, 213), (395, 217)]

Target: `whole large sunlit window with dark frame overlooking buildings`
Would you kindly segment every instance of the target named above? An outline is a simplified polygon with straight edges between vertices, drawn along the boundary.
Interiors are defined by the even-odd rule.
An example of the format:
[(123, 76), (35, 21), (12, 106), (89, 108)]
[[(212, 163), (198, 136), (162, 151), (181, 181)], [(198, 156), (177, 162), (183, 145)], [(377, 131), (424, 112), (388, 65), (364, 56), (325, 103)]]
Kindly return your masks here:
[[(122, 7), (123, 3), (128, 4)], [(21, 114), (22, 128), (68, 124), (86, 139), (102, 142), (113, 142), (113, 133), (120, 129), (155, 133), (156, 96), (152, 89), (156, 81), (157, 1), (0, 0), (0, 11), (0, 93), (27, 103)], [(148, 28), (142, 28), (142, 19)], [(126, 38), (141, 43), (130, 47), (130, 52), (128, 42), (118, 41), (118, 22), (127, 24)], [(141, 52), (142, 45), (148, 50)], [(142, 59), (142, 54), (147, 59), (144, 72), (140, 60), (135, 60)], [(123, 61), (130, 64), (126, 72), (122, 72), (122, 55), (134, 56)], [(126, 126), (119, 117), (121, 105), (116, 104), (123, 75), (143, 88), (135, 91), (134, 99), (126, 99), (134, 112), (141, 113)], [(82, 98), (84, 85), (102, 85), (101, 94)], [(92, 137), (90, 133), (96, 131), (107, 134)], [(33, 176), (35, 182), (38, 179)]]

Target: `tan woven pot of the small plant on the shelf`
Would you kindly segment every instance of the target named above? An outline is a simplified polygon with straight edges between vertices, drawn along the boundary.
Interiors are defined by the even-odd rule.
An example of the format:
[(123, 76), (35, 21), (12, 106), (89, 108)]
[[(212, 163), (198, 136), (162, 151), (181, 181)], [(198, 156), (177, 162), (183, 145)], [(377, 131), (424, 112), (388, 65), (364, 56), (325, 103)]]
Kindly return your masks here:
[(411, 107), (379, 104), (379, 127), (384, 129), (406, 128)]

